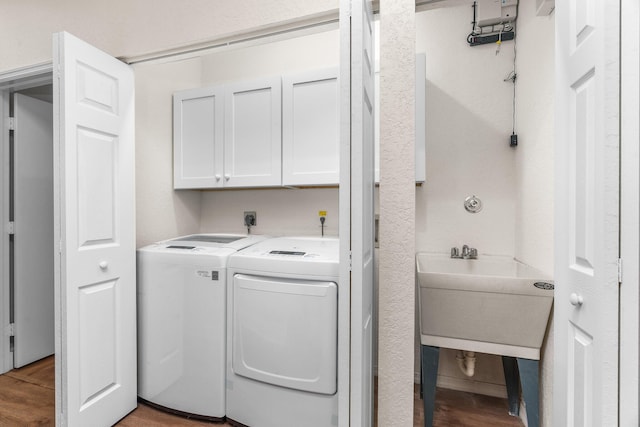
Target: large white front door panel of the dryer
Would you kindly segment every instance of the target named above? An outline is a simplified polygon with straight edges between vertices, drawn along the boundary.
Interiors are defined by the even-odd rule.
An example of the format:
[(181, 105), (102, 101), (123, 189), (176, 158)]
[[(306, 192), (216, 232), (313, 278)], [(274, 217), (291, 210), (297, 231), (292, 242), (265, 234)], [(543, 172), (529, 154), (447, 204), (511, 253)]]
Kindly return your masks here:
[(336, 283), (236, 274), (232, 292), (236, 374), (297, 390), (336, 392)]

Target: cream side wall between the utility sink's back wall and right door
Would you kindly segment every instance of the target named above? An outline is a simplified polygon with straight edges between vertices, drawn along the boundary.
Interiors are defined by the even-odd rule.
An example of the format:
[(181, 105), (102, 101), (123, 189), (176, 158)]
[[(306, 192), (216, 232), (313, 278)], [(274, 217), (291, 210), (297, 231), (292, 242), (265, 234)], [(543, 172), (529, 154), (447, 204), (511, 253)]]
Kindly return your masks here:
[[(553, 277), (553, 147), (555, 14), (535, 16), (520, 2), (518, 19), (515, 256)], [(542, 426), (552, 425), (553, 320), (542, 350)]]

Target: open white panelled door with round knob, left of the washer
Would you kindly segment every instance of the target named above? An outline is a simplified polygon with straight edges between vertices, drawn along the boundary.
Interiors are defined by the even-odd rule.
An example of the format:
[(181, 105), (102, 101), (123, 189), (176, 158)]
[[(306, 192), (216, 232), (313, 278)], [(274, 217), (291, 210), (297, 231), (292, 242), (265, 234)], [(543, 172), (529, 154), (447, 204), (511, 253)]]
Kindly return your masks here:
[(133, 72), (54, 35), (56, 424), (136, 407)]

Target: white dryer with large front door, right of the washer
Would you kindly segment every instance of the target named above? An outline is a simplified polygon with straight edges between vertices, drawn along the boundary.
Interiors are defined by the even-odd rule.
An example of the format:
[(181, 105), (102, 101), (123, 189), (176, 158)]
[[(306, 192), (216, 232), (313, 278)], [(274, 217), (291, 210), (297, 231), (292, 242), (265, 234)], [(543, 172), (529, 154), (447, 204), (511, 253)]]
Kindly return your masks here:
[(228, 419), (338, 425), (338, 276), (337, 238), (273, 238), (229, 257)]

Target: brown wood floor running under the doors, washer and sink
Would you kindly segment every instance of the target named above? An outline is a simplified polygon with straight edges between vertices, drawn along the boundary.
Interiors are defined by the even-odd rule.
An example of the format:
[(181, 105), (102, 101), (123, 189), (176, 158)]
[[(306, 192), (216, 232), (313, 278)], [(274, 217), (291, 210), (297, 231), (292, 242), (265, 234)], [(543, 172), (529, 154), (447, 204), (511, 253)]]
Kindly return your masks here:
[[(53, 356), (21, 369), (0, 375), (0, 426), (53, 426), (54, 406)], [(416, 386), (414, 426), (423, 423), (422, 401)], [(170, 415), (147, 405), (138, 408), (122, 419), (122, 427), (156, 426), (219, 426), (187, 420)], [(506, 399), (438, 389), (434, 427), (522, 427), (518, 418), (507, 413)]]

